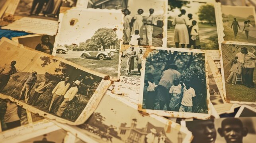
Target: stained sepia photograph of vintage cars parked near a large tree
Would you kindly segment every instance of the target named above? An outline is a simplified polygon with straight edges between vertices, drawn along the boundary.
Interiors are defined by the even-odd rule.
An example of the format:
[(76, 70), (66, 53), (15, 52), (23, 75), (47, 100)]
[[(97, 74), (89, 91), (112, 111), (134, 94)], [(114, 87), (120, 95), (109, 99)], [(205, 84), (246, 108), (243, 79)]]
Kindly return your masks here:
[(72, 9), (61, 19), (53, 55), (117, 77), (123, 35), (121, 10)]

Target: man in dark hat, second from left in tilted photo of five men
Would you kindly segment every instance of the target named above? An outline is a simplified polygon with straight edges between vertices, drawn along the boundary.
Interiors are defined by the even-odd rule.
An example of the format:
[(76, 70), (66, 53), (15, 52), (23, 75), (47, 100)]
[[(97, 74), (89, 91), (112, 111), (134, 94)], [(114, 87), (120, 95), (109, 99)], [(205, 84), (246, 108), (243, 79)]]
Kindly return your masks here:
[(25, 102), (27, 103), (28, 99), (29, 99), (29, 94), (31, 89), (33, 89), (35, 82), (37, 81), (37, 72), (32, 72), (31, 75), (29, 75), (27, 77), (27, 79), (22, 83), (23, 88), (21, 89), (21, 93), (20, 93), (20, 98), (19, 100), (23, 97), (24, 93), (25, 93)]

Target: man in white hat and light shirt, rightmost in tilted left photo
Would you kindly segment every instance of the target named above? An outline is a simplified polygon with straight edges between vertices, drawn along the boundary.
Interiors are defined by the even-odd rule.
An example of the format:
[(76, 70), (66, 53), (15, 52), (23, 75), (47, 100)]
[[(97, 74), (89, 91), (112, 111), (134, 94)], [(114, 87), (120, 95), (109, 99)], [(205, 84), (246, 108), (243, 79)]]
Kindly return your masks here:
[(76, 93), (78, 92), (78, 85), (80, 84), (80, 81), (76, 80), (73, 81), (73, 85), (70, 89), (68, 89), (68, 91), (66, 92), (66, 94), (64, 95), (64, 100), (61, 103), (61, 105), (59, 106), (59, 109), (57, 111), (57, 116), (62, 116), (64, 110), (68, 107), (69, 102), (74, 99)]

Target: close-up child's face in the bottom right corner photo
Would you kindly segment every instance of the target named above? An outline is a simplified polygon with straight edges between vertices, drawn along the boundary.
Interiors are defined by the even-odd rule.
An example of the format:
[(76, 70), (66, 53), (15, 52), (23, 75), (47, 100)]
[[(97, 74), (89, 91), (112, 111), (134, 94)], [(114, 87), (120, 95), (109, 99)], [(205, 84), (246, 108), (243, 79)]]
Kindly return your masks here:
[(242, 143), (242, 131), (239, 125), (225, 125), (223, 135), (227, 143)]

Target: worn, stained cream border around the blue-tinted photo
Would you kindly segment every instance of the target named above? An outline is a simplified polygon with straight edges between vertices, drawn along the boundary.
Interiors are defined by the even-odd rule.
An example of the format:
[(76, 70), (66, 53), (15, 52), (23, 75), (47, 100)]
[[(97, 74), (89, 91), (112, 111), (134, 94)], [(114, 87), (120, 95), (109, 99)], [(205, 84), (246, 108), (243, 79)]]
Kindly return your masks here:
[[(143, 108), (143, 90), (140, 90), (139, 95), (139, 104), (138, 104), (138, 110), (142, 112), (146, 112), (148, 114), (156, 114), (158, 116), (166, 116), (166, 117), (177, 117), (177, 118), (197, 118), (197, 119), (207, 119), (211, 116), (211, 108), (209, 105), (210, 102), (210, 93), (209, 93), (209, 79), (208, 79), (208, 70), (207, 70), (207, 55), (205, 54), (205, 50), (198, 50), (198, 49), (187, 49), (187, 48), (163, 48), (163, 47), (152, 47), (150, 50), (172, 50), (172, 51), (178, 51), (178, 52), (193, 52), (193, 53), (202, 53), (205, 57), (205, 79), (206, 79), (206, 93), (207, 93), (207, 108), (208, 113), (193, 113), (193, 112), (176, 112), (176, 111), (168, 111), (168, 110), (151, 110), (151, 109), (144, 109)], [(140, 88), (144, 89), (144, 80), (145, 80), (145, 60), (143, 60), (142, 64), (142, 72), (141, 72), (141, 78), (140, 78)]]

